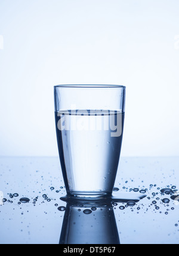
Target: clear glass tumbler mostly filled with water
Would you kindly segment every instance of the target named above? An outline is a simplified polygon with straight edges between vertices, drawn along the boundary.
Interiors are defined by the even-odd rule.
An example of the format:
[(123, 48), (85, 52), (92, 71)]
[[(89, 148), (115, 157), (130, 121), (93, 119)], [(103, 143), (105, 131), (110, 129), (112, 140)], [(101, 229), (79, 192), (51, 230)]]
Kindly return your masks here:
[(125, 86), (54, 86), (58, 151), (67, 196), (112, 195), (121, 153)]

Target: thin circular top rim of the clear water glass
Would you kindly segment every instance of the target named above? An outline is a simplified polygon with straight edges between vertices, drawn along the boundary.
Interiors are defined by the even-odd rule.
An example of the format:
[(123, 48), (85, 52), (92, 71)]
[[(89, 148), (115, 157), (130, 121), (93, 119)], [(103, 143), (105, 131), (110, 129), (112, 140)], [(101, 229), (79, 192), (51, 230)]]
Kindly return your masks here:
[(123, 88), (124, 85), (55, 85), (54, 88)]

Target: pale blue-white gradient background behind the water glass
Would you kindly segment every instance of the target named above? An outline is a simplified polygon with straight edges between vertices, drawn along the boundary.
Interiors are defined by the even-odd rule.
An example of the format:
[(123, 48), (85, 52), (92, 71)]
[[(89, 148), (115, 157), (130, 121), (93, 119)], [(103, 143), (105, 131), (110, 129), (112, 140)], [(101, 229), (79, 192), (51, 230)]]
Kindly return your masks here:
[(71, 83), (126, 86), (122, 156), (179, 155), (178, 10), (178, 0), (0, 0), (0, 155), (58, 154), (53, 86)]

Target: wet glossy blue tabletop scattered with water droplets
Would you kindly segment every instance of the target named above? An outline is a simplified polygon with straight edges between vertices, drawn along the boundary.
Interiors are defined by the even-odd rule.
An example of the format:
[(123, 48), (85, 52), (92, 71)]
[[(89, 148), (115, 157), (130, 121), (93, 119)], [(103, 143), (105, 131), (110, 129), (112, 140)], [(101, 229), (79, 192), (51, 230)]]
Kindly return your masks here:
[(60, 200), (58, 158), (0, 161), (0, 243), (90, 243), (101, 230), (96, 243), (179, 242), (177, 157), (121, 158), (113, 198), (101, 205)]

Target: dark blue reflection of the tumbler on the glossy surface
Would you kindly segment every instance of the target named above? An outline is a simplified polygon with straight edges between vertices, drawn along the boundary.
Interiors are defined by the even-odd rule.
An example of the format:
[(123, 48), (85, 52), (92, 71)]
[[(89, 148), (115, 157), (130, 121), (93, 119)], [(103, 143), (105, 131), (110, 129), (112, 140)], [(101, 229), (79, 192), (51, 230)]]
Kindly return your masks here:
[(67, 203), (60, 244), (119, 244), (112, 203)]

